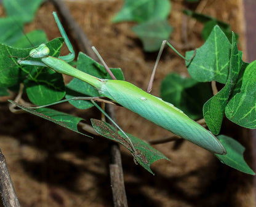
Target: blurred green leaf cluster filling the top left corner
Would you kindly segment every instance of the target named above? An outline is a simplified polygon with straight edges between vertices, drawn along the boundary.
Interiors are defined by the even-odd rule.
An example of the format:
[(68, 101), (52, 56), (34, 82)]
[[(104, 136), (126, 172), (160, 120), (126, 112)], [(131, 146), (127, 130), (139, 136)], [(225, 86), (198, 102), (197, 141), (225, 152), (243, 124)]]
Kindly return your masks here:
[(28, 48), (47, 42), (44, 31), (37, 29), (23, 34), (25, 23), (33, 20), (34, 14), (44, 0), (4, 0), (7, 17), (0, 18), (0, 42), (17, 48)]

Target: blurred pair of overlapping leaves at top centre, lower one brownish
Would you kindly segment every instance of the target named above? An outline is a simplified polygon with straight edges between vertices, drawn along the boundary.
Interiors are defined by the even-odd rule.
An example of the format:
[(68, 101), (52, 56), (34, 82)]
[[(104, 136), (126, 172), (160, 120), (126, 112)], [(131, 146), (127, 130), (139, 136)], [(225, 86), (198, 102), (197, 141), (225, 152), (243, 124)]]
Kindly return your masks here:
[(167, 21), (170, 8), (169, 0), (126, 0), (113, 22), (137, 22), (138, 25), (132, 30), (142, 41), (143, 49), (146, 52), (155, 52), (172, 33), (172, 26)]

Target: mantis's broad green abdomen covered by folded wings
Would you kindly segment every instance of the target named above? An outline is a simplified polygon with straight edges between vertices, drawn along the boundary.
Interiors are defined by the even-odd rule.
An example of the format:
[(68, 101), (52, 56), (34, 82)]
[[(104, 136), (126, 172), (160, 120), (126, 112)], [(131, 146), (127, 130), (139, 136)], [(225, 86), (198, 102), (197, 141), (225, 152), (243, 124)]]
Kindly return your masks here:
[(171, 104), (144, 92), (129, 82), (105, 80), (99, 92), (130, 111), (156, 123), (156, 125), (191, 141), (191, 143), (215, 154), (226, 154), (225, 147), (210, 131)]

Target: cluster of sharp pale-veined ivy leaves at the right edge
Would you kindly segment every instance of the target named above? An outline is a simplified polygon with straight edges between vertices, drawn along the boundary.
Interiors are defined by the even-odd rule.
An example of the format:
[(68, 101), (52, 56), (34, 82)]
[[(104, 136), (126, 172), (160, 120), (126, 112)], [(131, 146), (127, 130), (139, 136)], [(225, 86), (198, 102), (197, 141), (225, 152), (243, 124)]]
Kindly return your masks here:
[[(186, 58), (193, 53), (187, 52)], [(204, 119), (212, 133), (220, 132), (224, 115), (242, 127), (256, 128), (255, 63), (242, 61), (234, 33), (230, 44), (222, 29), (215, 26), (193, 60), (186, 64), (193, 79), (225, 84), (204, 104)]]

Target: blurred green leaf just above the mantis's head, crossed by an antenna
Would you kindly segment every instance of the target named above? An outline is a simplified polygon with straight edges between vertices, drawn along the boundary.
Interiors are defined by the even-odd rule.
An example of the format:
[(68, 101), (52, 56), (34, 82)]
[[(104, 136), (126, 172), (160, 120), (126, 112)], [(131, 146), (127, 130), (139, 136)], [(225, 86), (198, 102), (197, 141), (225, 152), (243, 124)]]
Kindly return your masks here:
[(42, 43), (48, 42), (46, 33), (44, 33), (44, 31), (40, 29), (36, 29), (31, 31), (30, 33), (27, 33), (26, 36), (23, 35), (22, 37), (20, 37), (20, 39), (12, 44), (12, 47), (29, 48), (31, 47), (31, 44), (28, 39), (30, 40), (31, 44), (34, 45), (34, 47), (37, 47)]

